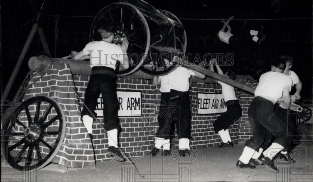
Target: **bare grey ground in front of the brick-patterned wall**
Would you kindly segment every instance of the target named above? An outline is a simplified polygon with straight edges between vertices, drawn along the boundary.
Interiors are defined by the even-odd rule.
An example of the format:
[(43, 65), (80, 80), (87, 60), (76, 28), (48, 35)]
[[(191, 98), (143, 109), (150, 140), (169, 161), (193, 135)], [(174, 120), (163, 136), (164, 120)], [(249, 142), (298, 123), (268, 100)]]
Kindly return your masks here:
[(312, 139), (303, 138), (294, 149), (296, 163), (276, 160), (279, 173), (270, 172), (265, 166), (256, 169), (238, 169), (236, 162), (244, 148), (195, 149), (186, 157), (177, 152), (171, 156), (146, 156), (132, 158), (142, 178), (129, 162), (114, 160), (97, 162), (95, 169), (66, 169), (49, 164), (34, 173), (16, 171), (2, 160), (2, 181), (312, 181)]

